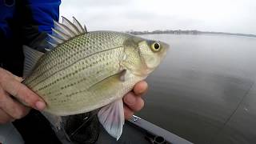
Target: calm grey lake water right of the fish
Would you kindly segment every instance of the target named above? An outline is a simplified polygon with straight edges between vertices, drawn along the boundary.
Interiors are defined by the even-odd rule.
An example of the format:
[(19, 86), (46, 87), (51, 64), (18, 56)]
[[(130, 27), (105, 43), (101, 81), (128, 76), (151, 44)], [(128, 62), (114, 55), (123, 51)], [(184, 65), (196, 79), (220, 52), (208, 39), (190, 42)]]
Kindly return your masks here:
[(170, 44), (138, 115), (194, 143), (256, 143), (256, 38), (143, 35)]

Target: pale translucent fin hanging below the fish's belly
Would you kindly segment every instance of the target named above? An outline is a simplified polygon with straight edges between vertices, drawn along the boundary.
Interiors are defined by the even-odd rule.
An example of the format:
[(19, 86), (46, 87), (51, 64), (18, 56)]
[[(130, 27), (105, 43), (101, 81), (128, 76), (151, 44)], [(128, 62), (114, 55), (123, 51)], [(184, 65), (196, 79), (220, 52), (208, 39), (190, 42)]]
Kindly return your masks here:
[(122, 98), (102, 107), (98, 112), (98, 120), (105, 130), (118, 140), (125, 123)]

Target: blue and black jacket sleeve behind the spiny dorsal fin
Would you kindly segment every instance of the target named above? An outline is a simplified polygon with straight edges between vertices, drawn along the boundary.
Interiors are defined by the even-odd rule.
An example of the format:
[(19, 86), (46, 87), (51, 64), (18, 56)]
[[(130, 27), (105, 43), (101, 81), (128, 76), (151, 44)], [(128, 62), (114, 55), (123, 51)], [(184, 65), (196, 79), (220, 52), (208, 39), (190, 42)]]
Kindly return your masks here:
[(25, 0), (17, 6), (22, 29), (22, 43), (36, 50), (45, 48), (46, 34), (58, 21), (60, 0)]

